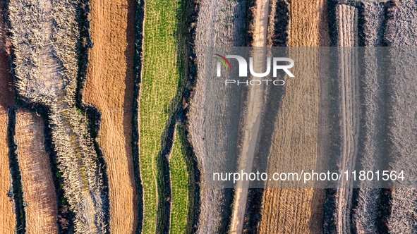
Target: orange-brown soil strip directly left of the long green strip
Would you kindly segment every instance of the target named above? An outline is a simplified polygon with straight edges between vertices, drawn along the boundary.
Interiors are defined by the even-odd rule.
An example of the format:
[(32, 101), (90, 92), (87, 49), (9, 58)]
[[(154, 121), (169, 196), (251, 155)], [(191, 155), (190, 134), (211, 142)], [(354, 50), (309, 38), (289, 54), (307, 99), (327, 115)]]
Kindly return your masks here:
[(83, 101), (102, 113), (97, 141), (107, 162), (110, 232), (134, 233), (138, 195), (133, 176), (132, 108), (135, 1), (91, 1), (89, 68)]

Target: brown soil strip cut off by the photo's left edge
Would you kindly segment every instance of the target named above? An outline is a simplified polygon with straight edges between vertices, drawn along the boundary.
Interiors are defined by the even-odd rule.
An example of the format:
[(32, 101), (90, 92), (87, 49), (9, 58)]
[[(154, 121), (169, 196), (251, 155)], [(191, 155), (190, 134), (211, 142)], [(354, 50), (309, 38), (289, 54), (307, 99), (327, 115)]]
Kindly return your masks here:
[[(0, 4), (3, 5), (4, 1), (0, 1)], [(16, 230), (13, 201), (8, 197), (11, 173), (8, 164), (7, 111), (14, 102), (12, 82), (4, 41), (3, 12), (0, 11), (0, 233), (13, 233)]]

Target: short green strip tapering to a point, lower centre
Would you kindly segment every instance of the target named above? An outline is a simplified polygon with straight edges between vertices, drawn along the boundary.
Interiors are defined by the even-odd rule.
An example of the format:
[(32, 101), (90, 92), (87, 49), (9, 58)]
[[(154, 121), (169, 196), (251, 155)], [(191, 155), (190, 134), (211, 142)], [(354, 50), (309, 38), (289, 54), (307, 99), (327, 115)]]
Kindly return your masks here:
[(193, 173), (187, 150), (184, 127), (177, 123), (174, 148), (169, 158), (172, 186), (171, 233), (191, 233)]

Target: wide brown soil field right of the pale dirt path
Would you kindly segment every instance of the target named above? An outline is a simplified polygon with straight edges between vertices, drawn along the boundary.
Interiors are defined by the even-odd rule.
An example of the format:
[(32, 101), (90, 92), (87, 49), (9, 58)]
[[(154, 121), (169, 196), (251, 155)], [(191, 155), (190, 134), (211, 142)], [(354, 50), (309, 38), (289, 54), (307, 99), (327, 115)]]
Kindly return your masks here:
[[(289, 11), (291, 17), (287, 44), (290, 47), (329, 45), (325, 1), (313, 1), (313, 4), (291, 1)], [(272, 12), (275, 12), (274, 9)], [(309, 66), (305, 70), (318, 70), (315, 69), (318, 68), (317, 60), (313, 58), (304, 63)], [(276, 123), (278, 127), (274, 135), (271, 162), (294, 157), (315, 161), (318, 159), (318, 152), (325, 150), (319, 144), (320, 138), (326, 139), (326, 133), (319, 129), (319, 116), (321, 121), (325, 118), (320, 115), (320, 104), (325, 101), (320, 100), (320, 93), (326, 90), (321, 90), (318, 74), (307, 75), (301, 71), (294, 75), (302, 77), (303, 82), (291, 79), (286, 82), (285, 96)], [(299, 113), (309, 113), (308, 118), (303, 118)], [(282, 122), (285, 119), (291, 121)], [(273, 168), (269, 170), (274, 171)], [(260, 233), (322, 233), (324, 195), (324, 190), (265, 189)]]

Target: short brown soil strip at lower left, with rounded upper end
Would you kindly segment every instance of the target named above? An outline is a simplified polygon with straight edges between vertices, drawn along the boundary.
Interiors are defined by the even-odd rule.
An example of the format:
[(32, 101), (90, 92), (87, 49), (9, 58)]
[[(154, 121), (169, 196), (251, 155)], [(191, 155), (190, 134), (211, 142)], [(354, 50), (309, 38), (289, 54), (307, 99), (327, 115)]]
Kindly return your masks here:
[(26, 204), (26, 232), (58, 233), (58, 207), (51, 162), (44, 149), (42, 118), (18, 109), (15, 137)]

